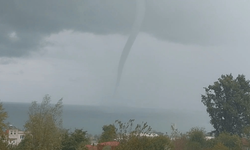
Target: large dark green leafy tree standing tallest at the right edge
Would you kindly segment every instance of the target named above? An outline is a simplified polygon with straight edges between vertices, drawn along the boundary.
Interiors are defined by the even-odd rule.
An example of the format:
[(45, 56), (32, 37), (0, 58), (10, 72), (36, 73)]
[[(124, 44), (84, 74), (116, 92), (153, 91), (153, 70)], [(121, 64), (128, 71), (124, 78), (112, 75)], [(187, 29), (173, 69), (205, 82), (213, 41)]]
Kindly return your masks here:
[(213, 85), (205, 88), (202, 103), (207, 107), (215, 134), (222, 132), (242, 136), (250, 124), (250, 84), (244, 75), (236, 79), (222, 75)]

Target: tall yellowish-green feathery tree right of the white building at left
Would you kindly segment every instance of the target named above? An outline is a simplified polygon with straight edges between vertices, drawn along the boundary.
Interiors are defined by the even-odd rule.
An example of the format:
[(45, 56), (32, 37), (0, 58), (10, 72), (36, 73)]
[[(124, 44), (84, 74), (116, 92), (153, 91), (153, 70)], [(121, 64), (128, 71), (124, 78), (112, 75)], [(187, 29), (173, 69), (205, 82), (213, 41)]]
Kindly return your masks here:
[(62, 99), (55, 105), (46, 95), (41, 104), (32, 102), (29, 108), (29, 120), (24, 125), (26, 135), (23, 149), (26, 150), (59, 150), (61, 149)]

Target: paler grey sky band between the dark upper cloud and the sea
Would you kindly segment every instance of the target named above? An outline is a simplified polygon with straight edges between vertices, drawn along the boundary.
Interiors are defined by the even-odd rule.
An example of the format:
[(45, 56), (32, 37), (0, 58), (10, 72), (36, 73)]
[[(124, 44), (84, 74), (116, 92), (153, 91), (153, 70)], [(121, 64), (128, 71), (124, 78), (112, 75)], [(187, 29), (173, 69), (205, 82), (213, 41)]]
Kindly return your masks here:
[(205, 111), (200, 101), (203, 87), (221, 74), (250, 77), (247, 48), (177, 44), (140, 34), (113, 97), (126, 38), (65, 30), (46, 38), (50, 44), (40, 53), (1, 58), (1, 99), (31, 102), (50, 94), (67, 104)]

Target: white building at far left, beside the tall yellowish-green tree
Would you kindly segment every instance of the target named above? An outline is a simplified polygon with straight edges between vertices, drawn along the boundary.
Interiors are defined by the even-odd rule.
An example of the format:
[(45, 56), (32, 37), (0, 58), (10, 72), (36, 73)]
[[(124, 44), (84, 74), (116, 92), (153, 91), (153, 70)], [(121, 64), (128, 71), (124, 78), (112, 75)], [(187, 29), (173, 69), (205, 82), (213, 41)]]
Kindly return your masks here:
[(18, 145), (24, 138), (24, 131), (12, 125), (9, 126), (7, 133), (9, 135), (9, 144)]

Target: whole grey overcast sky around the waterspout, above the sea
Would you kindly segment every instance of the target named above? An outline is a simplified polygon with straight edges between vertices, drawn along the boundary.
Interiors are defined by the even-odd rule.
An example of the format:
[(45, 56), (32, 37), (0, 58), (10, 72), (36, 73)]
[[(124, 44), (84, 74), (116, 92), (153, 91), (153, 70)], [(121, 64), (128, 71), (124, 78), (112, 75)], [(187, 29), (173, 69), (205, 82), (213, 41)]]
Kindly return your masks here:
[(0, 0), (0, 99), (204, 110), (222, 74), (250, 79), (249, 0), (146, 0), (113, 96), (135, 0)]

